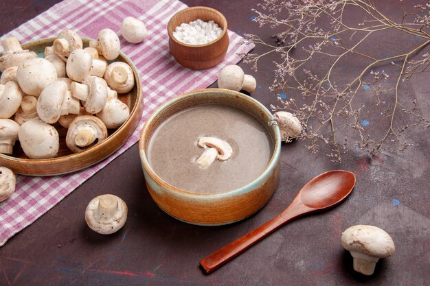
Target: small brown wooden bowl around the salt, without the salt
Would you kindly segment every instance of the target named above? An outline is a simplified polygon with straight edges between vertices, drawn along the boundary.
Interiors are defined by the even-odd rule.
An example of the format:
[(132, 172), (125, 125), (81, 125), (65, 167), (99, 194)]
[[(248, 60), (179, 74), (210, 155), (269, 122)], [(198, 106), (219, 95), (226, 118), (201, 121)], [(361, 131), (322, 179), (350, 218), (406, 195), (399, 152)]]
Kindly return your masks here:
[[(179, 42), (173, 36), (174, 29), (182, 23), (190, 23), (201, 19), (205, 22), (215, 21), (223, 29), (223, 33), (216, 40), (205, 45), (187, 45)], [(215, 9), (208, 7), (192, 7), (174, 14), (167, 25), (170, 53), (179, 64), (188, 69), (209, 69), (220, 63), (229, 47), (227, 34), (227, 20)]]

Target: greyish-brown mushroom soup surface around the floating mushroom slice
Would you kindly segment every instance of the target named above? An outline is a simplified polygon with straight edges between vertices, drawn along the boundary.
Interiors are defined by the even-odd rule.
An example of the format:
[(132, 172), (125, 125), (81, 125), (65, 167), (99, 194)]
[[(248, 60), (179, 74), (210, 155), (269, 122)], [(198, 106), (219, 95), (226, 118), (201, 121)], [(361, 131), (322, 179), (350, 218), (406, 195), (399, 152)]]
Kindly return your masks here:
[[(203, 137), (215, 137), (231, 146), (231, 156), (208, 167), (196, 163), (205, 150)], [(238, 108), (205, 104), (186, 108), (163, 121), (150, 137), (146, 156), (161, 179), (193, 193), (221, 193), (238, 189), (262, 174), (273, 154), (273, 141), (267, 128), (255, 117)]]

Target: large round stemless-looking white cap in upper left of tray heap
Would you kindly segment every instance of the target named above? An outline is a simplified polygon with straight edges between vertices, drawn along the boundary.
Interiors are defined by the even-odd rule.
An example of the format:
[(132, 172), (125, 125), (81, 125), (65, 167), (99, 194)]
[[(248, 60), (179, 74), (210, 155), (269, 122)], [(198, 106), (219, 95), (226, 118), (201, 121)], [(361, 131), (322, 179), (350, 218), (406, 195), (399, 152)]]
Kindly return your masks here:
[(16, 81), (27, 95), (40, 95), (43, 88), (55, 82), (57, 78), (54, 64), (44, 58), (26, 60), (16, 71)]

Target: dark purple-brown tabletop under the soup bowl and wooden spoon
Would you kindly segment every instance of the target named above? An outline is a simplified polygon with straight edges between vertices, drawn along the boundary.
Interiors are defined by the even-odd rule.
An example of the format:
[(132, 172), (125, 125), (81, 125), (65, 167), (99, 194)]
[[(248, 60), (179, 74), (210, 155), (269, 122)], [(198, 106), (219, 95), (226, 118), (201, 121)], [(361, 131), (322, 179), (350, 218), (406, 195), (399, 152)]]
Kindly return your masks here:
[[(3, 1), (0, 34), (55, 2)], [(216, 8), (234, 32), (265, 39), (273, 34), (251, 22), (256, 1), (184, 2)], [(393, 12), (401, 11), (394, 6), (401, 2), (389, 2)], [(374, 49), (383, 52), (381, 43)], [(251, 72), (261, 86), (253, 97), (268, 107), (276, 102), (269, 91), (272, 60), (263, 59), (260, 71)], [(346, 74), (353, 64), (345, 65)], [(428, 116), (428, 80), (417, 77), (404, 92)], [(0, 248), (0, 285), (429, 285), (428, 133), (418, 129), (408, 136), (415, 146), (405, 152), (393, 147), (369, 158), (352, 151), (341, 164), (330, 162), (328, 147), (310, 154), (302, 141), (283, 145), (282, 178), (272, 200), (242, 222), (210, 228), (179, 222), (152, 202), (135, 144)], [(291, 222), (213, 274), (199, 269), (203, 257), (280, 213), (308, 180), (330, 169), (357, 176), (346, 202)], [(84, 222), (88, 202), (102, 193), (119, 195), (129, 208), (126, 225), (111, 236), (93, 233)], [(373, 276), (354, 272), (352, 257), (341, 248), (341, 232), (354, 224), (379, 226), (396, 244)]]

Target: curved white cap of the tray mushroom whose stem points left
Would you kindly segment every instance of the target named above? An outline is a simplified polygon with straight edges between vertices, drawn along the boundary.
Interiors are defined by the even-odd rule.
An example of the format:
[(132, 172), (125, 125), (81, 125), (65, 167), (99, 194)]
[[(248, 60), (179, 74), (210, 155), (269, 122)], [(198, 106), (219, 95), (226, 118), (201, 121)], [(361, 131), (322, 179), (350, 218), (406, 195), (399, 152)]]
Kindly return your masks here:
[(108, 98), (106, 81), (91, 75), (84, 80), (84, 84), (89, 87), (88, 97), (83, 102), (85, 110), (91, 114), (102, 111)]

